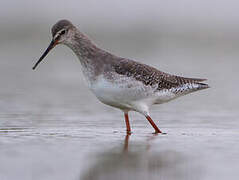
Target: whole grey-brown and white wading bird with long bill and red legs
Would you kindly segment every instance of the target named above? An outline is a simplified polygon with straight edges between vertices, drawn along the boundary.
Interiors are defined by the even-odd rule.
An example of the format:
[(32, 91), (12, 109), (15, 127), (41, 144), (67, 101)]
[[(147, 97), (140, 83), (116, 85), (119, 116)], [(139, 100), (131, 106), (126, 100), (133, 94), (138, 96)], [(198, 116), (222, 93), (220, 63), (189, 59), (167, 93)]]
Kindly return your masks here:
[(52, 41), (33, 69), (57, 44), (71, 48), (81, 62), (90, 90), (102, 103), (124, 112), (127, 134), (131, 133), (129, 111), (144, 115), (155, 133), (161, 133), (149, 114), (152, 105), (209, 87), (201, 83), (206, 79), (170, 75), (102, 50), (68, 20), (58, 21), (51, 31)]

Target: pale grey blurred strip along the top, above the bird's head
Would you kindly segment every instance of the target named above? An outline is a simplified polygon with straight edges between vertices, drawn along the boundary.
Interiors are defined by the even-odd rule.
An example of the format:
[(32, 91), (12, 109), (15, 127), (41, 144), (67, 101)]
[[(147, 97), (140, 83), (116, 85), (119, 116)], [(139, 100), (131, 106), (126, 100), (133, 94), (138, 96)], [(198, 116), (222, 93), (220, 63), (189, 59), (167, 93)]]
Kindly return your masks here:
[(5, 24), (69, 18), (82, 23), (115, 25), (139, 21), (237, 24), (238, 5), (233, 0), (5, 0), (0, 6), (0, 21)]

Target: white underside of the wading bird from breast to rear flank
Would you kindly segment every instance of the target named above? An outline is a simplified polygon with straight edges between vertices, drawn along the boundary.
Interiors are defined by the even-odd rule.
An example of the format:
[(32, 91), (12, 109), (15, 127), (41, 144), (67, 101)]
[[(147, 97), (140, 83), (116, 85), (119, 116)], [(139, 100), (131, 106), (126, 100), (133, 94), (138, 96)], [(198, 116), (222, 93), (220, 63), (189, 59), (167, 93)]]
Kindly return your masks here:
[(114, 80), (99, 76), (90, 83), (90, 89), (104, 104), (122, 110), (135, 110), (141, 113), (148, 112), (151, 105), (167, 102), (174, 94), (155, 92), (157, 87), (145, 86), (133, 78), (118, 75)]

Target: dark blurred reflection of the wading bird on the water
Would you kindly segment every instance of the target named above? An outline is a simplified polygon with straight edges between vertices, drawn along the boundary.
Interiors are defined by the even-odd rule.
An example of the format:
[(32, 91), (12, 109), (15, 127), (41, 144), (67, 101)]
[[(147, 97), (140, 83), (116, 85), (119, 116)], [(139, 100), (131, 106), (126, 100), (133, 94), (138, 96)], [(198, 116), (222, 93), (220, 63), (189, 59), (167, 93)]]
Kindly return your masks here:
[(97, 154), (93, 165), (81, 173), (80, 180), (191, 178), (188, 172), (193, 169), (185, 166), (186, 160), (182, 154), (170, 150), (151, 151), (152, 141), (158, 138), (157, 135), (146, 138), (144, 142), (130, 142), (131, 136), (125, 136), (121, 148), (115, 147)]

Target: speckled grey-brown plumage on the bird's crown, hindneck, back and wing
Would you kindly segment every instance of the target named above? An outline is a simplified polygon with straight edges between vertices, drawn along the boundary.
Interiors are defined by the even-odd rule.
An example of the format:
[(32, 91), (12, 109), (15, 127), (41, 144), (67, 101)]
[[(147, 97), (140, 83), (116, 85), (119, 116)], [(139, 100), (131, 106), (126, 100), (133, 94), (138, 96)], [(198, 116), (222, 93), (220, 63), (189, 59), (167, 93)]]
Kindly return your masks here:
[[(54, 36), (63, 27), (74, 28), (69, 21), (62, 20), (52, 27), (52, 35)], [(83, 60), (81, 62), (84, 67), (89, 65), (94, 66), (94, 77), (103, 72), (106, 73), (108, 71), (115, 71), (120, 75), (135, 78), (147, 86), (157, 85), (157, 90), (177, 88), (184, 84), (192, 83), (199, 84), (199, 89), (208, 87), (207, 84), (200, 83), (206, 79), (185, 78), (170, 75), (146, 64), (117, 57), (95, 46), (89, 38), (87, 38), (87, 36), (79, 31), (76, 31), (73, 38), (76, 43), (71, 44), (71, 46), (73, 46), (71, 49), (75, 50), (76, 54), (79, 53)]]

